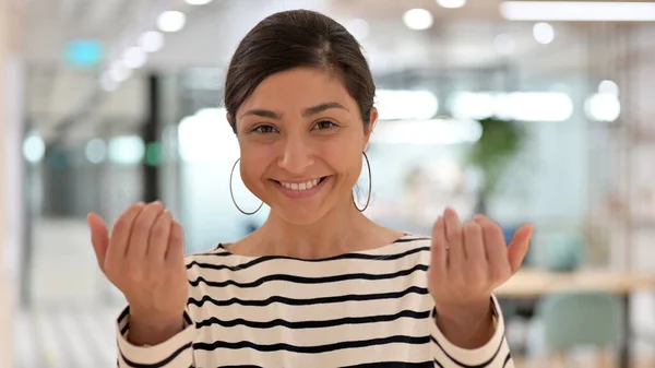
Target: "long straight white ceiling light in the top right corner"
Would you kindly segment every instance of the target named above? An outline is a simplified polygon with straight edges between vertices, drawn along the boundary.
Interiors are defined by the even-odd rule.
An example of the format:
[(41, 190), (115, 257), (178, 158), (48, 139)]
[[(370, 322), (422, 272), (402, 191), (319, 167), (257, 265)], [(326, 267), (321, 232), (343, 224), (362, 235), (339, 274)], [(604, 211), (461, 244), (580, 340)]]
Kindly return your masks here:
[(500, 13), (510, 21), (655, 21), (653, 2), (505, 1)]

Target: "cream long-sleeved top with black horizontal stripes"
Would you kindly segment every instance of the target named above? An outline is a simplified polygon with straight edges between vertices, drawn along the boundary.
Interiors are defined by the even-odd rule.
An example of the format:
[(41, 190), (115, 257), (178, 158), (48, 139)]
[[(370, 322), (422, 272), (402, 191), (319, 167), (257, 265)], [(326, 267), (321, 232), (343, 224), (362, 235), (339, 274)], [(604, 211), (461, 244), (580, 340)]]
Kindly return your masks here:
[[(502, 314), (487, 345), (463, 349), (437, 328), (427, 290), (430, 239), (323, 260), (189, 256), (187, 328), (150, 347), (117, 321), (118, 366), (136, 368), (513, 367)], [(500, 310), (493, 299), (496, 310)]]

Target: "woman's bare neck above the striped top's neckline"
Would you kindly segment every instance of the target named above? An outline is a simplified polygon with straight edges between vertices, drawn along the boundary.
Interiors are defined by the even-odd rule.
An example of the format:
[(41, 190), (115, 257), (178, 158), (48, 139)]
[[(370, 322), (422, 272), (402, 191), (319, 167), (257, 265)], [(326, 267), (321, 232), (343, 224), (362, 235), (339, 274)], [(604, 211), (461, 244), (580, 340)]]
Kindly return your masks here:
[(401, 233), (373, 223), (348, 203), (310, 225), (290, 224), (272, 211), (260, 228), (230, 246), (230, 251), (243, 256), (324, 259), (381, 247), (400, 237)]

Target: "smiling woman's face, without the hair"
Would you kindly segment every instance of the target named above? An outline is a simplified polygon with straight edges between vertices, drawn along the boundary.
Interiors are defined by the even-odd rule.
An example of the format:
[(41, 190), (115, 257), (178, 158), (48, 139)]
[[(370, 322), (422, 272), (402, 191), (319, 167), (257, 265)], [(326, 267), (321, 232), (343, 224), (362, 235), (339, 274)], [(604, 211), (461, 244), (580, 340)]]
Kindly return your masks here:
[(365, 131), (357, 103), (341, 81), (298, 68), (264, 80), (236, 112), (246, 187), (294, 224), (312, 224), (352, 201)]

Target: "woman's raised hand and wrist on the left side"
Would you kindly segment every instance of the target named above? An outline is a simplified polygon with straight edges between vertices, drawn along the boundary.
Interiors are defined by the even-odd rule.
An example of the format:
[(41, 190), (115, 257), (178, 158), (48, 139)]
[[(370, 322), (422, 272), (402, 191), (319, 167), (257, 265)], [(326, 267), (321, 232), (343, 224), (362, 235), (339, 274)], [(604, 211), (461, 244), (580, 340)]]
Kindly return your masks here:
[(182, 330), (189, 297), (181, 225), (160, 202), (136, 203), (116, 221), (88, 215), (100, 270), (130, 305), (130, 341), (155, 345)]

